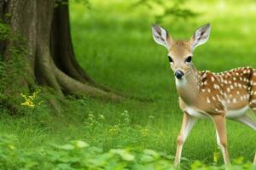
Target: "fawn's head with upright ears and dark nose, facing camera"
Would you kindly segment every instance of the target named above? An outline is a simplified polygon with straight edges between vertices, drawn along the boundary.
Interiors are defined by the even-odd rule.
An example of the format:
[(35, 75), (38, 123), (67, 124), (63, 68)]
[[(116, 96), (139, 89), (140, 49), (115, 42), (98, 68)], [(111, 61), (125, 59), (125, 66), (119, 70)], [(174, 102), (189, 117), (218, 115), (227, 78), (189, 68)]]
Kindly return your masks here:
[(189, 40), (177, 41), (173, 40), (166, 29), (157, 25), (151, 27), (154, 41), (165, 46), (168, 50), (167, 56), (175, 77), (178, 80), (183, 79), (191, 71), (194, 49), (207, 42), (210, 36), (210, 24), (198, 28)]

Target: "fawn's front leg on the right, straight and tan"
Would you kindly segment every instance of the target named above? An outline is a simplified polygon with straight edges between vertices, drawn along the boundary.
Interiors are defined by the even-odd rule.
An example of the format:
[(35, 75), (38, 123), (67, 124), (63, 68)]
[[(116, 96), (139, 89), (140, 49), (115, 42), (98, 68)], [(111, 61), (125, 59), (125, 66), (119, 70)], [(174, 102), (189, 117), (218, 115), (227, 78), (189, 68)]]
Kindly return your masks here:
[(212, 116), (216, 128), (217, 144), (222, 152), (224, 163), (230, 164), (229, 152), (227, 149), (226, 119), (223, 115)]

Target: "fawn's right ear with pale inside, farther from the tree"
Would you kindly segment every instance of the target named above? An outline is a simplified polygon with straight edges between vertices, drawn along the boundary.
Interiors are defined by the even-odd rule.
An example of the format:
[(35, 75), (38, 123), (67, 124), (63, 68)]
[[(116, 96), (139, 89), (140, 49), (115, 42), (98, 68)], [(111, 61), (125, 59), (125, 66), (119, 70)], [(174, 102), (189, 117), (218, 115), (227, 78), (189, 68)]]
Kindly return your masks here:
[(195, 49), (197, 46), (207, 42), (210, 37), (211, 25), (206, 24), (204, 26), (199, 27), (193, 37), (191, 37), (191, 46), (192, 49)]

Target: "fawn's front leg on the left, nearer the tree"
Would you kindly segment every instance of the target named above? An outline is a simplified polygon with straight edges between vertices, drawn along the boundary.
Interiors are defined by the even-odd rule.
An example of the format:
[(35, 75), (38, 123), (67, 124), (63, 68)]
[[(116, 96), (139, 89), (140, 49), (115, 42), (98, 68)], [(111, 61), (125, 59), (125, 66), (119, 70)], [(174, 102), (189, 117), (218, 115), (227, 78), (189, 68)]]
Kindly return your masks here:
[(189, 133), (194, 126), (196, 122), (196, 118), (189, 116), (188, 113), (184, 112), (183, 113), (183, 123), (182, 127), (180, 130), (180, 133), (177, 136), (177, 151), (176, 151), (176, 156), (175, 156), (175, 161), (174, 161), (174, 166), (177, 167), (177, 165), (180, 162), (182, 150), (183, 150), (183, 144), (185, 140), (188, 138)]

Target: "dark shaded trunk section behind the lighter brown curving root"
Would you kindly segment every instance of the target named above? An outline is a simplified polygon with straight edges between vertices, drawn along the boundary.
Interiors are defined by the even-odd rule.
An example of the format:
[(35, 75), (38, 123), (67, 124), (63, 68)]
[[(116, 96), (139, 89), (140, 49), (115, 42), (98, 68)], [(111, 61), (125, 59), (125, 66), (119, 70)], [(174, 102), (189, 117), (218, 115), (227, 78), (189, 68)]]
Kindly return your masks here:
[(56, 66), (69, 77), (73, 77), (79, 82), (89, 83), (91, 86), (101, 88), (106, 92), (114, 92), (115, 94), (124, 95), (111, 88), (105, 87), (102, 84), (96, 83), (86, 71), (81, 68), (78, 61), (75, 59), (70, 34), (68, 5), (61, 5), (58, 8), (55, 8), (50, 45)]

